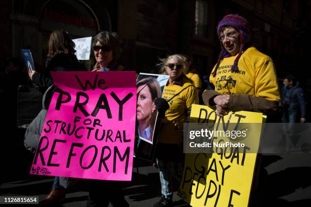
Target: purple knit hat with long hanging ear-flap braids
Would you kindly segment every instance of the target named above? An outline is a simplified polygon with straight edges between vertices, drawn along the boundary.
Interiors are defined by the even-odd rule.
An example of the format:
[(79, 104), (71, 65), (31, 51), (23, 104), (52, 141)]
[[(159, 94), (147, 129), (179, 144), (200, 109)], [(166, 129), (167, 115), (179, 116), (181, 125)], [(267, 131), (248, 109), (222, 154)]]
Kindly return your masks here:
[[(231, 66), (231, 72), (237, 72), (237, 71), (239, 71), (237, 63), (241, 57), (242, 51), (244, 50), (244, 45), (245, 45), (245, 43), (247, 43), (250, 40), (250, 33), (251, 33), (250, 27), (248, 26), (247, 20), (244, 19), (243, 17), (237, 15), (237, 14), (229, 14), (229, 15), (225, 16), (218, 23), (218, 25), (217, 25), (218, 37), (220, 37), (220, 29), (223, 26), (232, 26), (236, 30), (238, 30), (238, 32), (240, 34), (240, 44), (241, 44), (240, 50), (239, 50), (238, 56), (234, 60), (234, 64)], [(221, 41), (221, 47), (222, 47), (222, 51), (218, 57), (216, 68), (215, 68), (215, 71), (213, 72), (213, 77), (216, 76), (217, 68), (218, 68), (221, 60), (224, 58), (224, 56), (227, 53), (227, 51), (223, 48), (222, 41)]]

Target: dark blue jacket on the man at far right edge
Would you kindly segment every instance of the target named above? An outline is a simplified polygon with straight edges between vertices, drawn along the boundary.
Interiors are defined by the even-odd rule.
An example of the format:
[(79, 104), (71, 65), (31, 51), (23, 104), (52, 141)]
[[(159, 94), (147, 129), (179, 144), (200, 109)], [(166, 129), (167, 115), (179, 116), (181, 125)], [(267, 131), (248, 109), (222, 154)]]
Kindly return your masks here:
[(306, 117), (306, 102), (303, 90), (299, 87), (299, 82), (297, 82), (292, 88), (282, 88), (281, 95), (281, 106), (283, 109), (291, 112), (297, 111), (300, 108), (300, 117)]

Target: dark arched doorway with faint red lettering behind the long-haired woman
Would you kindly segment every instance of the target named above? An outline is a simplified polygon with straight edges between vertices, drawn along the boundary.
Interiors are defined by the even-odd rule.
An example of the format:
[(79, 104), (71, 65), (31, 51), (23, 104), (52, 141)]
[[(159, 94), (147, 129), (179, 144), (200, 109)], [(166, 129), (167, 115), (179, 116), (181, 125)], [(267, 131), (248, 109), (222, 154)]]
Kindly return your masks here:
[[(61, 6), (60, 6), (61, 5)], [(83, 1), (76, 0), (50, 0), (41, 8), (41, 64), (45, 62), (48, 53), (48, 40), (54, 29), (66, 30), (72, 39), (94, 37), (100, 30), (100, 22), (95, 12)], [(91, 53), (92, 55), (92, 53)], [(83, 64), (90, 69), (94, 65), (94, 58), (83, 60)]]

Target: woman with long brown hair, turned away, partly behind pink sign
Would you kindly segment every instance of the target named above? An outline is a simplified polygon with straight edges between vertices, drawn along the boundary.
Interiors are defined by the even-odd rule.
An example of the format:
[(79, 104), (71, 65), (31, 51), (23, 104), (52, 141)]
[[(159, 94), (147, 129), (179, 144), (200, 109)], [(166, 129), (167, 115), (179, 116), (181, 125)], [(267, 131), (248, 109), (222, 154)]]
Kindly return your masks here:
[[(30, 79), (36, 85), (42, 87), (43, 89), (48, 89), (53, 85), (53, 80), (51, 76), (52, 71), (65, 72), (65, 71), (86, 71), (84, 65), (79, 62), (75, 52), (75, 43), (69, 37), (69, 34), (63, 29), (57, 29), (52, 31), (49, 39), (49, 53), (47, 55), (45, 73), (40, 74), (35, 71), (29, 73)], [(53, 94), (53, 89), (49, 88), (48, 93), (45, 93), (43, 109), (47, 109), (51, 101)], [(41, 121), (34, 120), (27, 128), (25, 134), (24, 144), (27, 149), (33, 151), (32, 149), (37, 148), (37, 144), (40, 139), (40, 133), (42, 129), (42, 124), (46, 116), (46, 111), (40, 112)], [(38, 119), (38, 117), (36, 118)], [(60, 180), (61, 179), (61, 180)], [(63, 181), (63, 182), (62, 182)], [(53, 187), (49, 195), (40, 202), (42, 206), (51, 206), (56, 203), (60, 203), (65, 200), (65, 189), (69, 187), (69, 182), (67, 178), (55, 177)]]

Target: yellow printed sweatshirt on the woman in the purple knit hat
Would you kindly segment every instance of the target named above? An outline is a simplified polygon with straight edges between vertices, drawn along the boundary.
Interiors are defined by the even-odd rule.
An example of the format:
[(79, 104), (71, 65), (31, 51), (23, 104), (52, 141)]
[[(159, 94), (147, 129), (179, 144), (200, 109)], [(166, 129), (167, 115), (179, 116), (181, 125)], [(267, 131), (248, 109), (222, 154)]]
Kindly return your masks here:
[[(238, 61), (239, 71), (231, 73), (237, 55), (224, 58), (216, 76), (211, 74), (209, 81), (220, 94), (249, 94), (279, 101), (276, 72), (272, 59), (259, 52), (255, 47), (244, 51)], [(213, 71), (215, 70), (215, 66)]]

